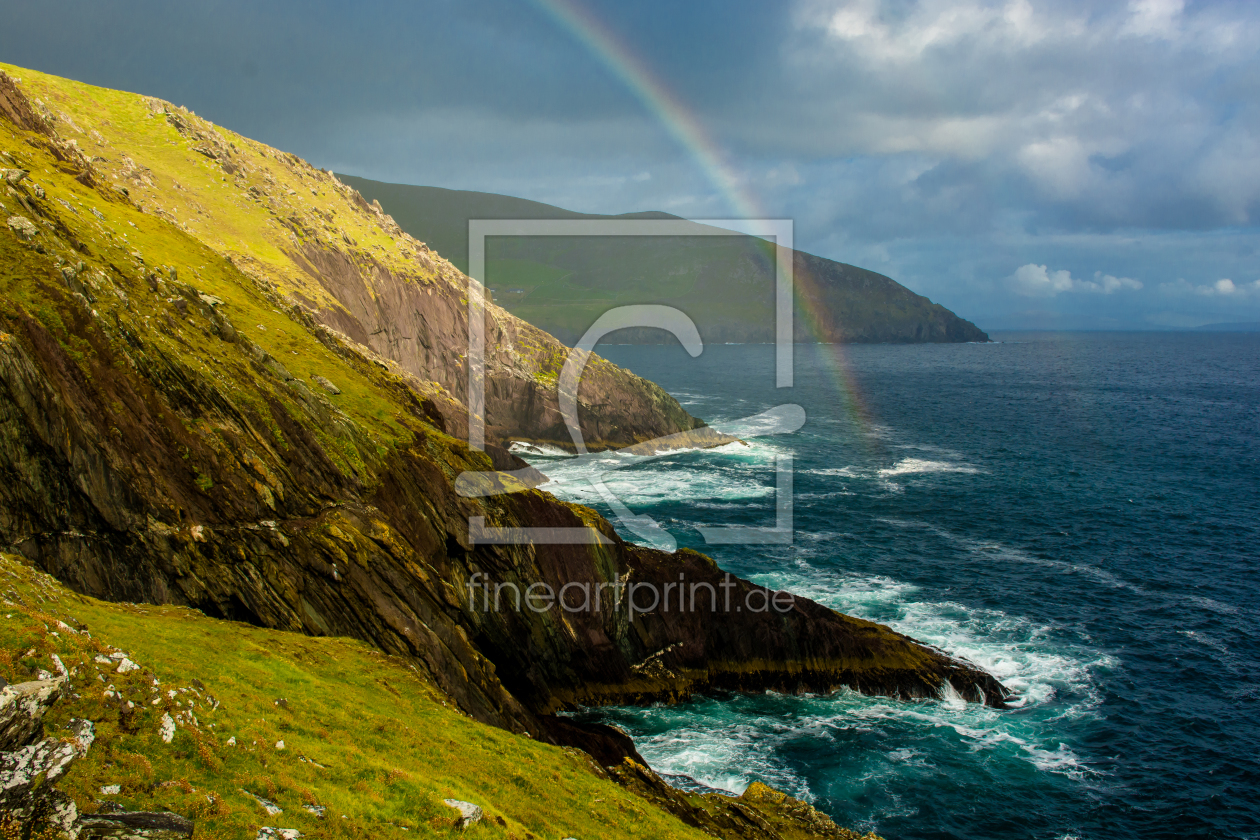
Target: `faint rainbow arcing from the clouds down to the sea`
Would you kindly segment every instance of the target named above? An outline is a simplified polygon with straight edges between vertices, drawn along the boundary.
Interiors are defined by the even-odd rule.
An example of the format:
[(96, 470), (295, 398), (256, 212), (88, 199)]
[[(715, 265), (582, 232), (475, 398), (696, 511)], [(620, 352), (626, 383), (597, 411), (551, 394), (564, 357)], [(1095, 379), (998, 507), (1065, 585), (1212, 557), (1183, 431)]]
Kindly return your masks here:
[[(578, 0), (534, 0), (534, 4), (567, 30), (610, 73), (620, 79), (643, 106), (660, 122), (687, 154), (699, 165), (706, 178), (721, 194), (736, 218), (764, 219), (767, 213), (742, 186), (735, 167), (722, 147), (709, 137), (699, 120), (682, 101), (612, 33), (604, 21), (585, 9)], [(810, 335), (825, 335), (818, 306), (819, 295), (811, 293), (818, 282), (809, 272), (796, 271), (794, 277), (795, 306)], [(844, 345), (827, 345), (827, 364), (832, 368), (844, 413), (863, 432), (867, 445), (874, 443), (873, 424), (866, 402), (857, 387)]]

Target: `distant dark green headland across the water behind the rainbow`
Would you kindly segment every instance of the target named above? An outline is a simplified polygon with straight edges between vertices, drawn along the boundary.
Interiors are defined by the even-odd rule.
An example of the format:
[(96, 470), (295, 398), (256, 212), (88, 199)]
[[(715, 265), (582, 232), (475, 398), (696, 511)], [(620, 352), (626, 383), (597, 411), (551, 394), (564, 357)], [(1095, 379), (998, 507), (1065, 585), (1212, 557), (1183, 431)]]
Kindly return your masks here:
[[(467, 268), (469, 219), (677, 219), (667, 213), (591, 215), (525, 199), (340, 176), (398, 224)], [(573, 343), (610, 306), (667, 304), (706, 341), (772, 341), (771, 247), (751, 237), (513, 237), (486, 243), (486, 285), (508, 311)], [(873, 271), (794, 254), (795, 338), (827, 343), (987, 341), (944, 306)], [(625, 330), (617, 341), (672, 340)]]

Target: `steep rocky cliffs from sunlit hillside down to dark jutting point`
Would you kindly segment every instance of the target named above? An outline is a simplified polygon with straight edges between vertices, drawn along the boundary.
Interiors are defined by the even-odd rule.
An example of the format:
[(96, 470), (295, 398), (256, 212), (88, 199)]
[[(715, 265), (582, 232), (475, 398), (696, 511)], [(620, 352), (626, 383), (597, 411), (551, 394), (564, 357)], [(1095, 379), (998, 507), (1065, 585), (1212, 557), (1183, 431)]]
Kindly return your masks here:
[[(478, 719), (539, 737), (562, 738), (547, 718), (558, 709), (709, 688), (849, 685), (910, 698), (948, 681), (969, 699), (1005, 696), (965, 662), (804, 599), (785, 610), (702, 601), (638, 615), (616, 594), (611, 608), (488, 607), (499, 584), (561, 592), (577, 583), (607, 597), (633, 582), (664, 588), (668, 604), (665, 587), (682, 576), (732, 607), (764, 607), (769, 593), (702, 555), (627, 545), (592, 511), (539, 491), (460, 497), (455, 477), (494, 461), (442, 431), (459, 406), (460, 364), (438, 339), (464, 329), (459, 277), (445, 263), (389, 238), (388, 219), (330, 176), (292, 160), (258, 162), (281, 152), (194, 131), (203, 123), (165, 105), (29, 77), (4, 82), (3, 110), (32, 116), (0, 118), (11, 166), (0, 195), (9, 220), (0, 230), (0, 547), (100, 597), (370, 641), (426, 669)], [(175, 164), (155, 151), (140, 162), (120, 133), (102, 133), (102, 154), (89, 159), (52, 123), (86, 137), (105, 123), (170, 135), (173, 150), (161, 154), (192, 161), (189, 180), (208, 180), (195, 189), (168, 181), (159, 167)], [(115, 161), (126, 171), (110, 169)], [(246, 170), (275, 181), (272, 195), (246, 198)], [(344, 222), (341, 236), (364, 244), (335, 248), (324, 228), (294, 233), (287, 248), (233, 239), (256, 223), (255, 205), (299, 204), (284, 186), (290, 178), (307, 193), (343, 196), (330, 224)], [(319, 217), (307, 210), (307, 222)], [(292, 230), (290, 217), (265, 215), (258, 224), (281, 241), (281, 229)], [(399, 249), (413, 262), (393, 262)], [(525, 339), (543, 338), (491, 315), (507, 400), (491, 403), (491, 424), (544, 422), (548, 398), (525, 373), (558, 345), (523, 351)], [(406, 351), (394, 332), (407, 332)], [(601, 375), (596, 393), (609, 388), (626, 411), (636, 399), (654, 407), (617, 426), (622, 440), (689, 422), (653, 385), (611, 365)], [(474, 516), (598, 538), (476, 544)]]

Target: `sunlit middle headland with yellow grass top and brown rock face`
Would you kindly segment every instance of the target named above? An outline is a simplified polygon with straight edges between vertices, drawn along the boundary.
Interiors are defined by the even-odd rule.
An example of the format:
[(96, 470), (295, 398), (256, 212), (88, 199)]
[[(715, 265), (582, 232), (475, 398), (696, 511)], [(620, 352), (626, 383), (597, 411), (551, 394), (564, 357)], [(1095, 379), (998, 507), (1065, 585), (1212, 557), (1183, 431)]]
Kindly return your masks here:
[[(435, 411), (466, 436), (467, 278), (404, 234), (330, 173), (166, 102), (9, 68), (29, 120), (82, 160), (103, 188), (428, 387)], [(35, 123), (30, 123), (32, 127)], [(146, 258), (146, 254), (141, 254)], [(152, 264), (152, 261), (149, 261)], [(491, 436), (571, 443), (556, 395), (567, 349), (496, 306), (486, 312)], [(580, 402), (600, 406), (591, 448), (625, 446), (701, 422), (655, 384), (593, 359)], [(581, 412), (583, 423), (592, 413)]]

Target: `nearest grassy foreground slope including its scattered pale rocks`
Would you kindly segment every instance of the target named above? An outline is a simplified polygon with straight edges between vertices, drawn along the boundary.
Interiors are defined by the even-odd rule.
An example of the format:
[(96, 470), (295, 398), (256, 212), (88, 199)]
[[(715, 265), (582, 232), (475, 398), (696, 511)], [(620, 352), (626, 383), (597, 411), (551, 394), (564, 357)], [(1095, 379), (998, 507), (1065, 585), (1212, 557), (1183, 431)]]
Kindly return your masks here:
[(685, 793), (476, 723), (363, 642), (102, 603), (4, 554), (0, 588), (6, 839), (469, 836), (451, 800), (501, 840), (858, 840), (760, 783)]

